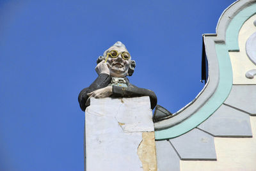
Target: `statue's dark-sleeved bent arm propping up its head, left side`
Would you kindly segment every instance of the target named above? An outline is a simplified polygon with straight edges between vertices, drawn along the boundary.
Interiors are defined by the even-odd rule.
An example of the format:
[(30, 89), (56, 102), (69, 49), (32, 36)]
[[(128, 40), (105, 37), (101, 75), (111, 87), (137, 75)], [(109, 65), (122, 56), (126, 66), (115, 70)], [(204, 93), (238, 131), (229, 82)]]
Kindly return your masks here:
[(84, 88), (78, 96), (78, 101), (80, 108), (84, 111), (86, 106), (86, 101), (88, 100), (89, 96), (88, 93), (91, 93), (92, 91), (95, 91), (97, 89), (102, 89), (106, 86), (108, 86), (109, 82), (111, 80), (111, 77), (106, 73), (100, 73), (99, 77), (89, 86)]

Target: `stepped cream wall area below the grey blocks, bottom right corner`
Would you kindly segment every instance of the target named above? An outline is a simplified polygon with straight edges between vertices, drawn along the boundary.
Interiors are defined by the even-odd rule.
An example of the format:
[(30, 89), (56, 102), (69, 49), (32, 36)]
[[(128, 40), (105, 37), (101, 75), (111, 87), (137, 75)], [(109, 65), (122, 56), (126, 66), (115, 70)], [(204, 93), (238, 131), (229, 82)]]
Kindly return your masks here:
[(256, 117), (250, 117), (253, 138), (214, 138), (217, 161), (180, 161), (180, 170), (256, 170)]

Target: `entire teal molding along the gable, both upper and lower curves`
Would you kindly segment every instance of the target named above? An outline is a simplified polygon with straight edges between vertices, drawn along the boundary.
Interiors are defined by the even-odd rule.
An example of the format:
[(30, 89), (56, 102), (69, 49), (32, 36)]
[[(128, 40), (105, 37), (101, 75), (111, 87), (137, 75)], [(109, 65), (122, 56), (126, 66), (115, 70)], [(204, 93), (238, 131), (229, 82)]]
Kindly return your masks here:
[[(235, 12), (236, 11), (234, 11), (234, 13)], [(216, 40), (215, 50), (220, 70), (220, 80), (216, 91), (211, 96), (211, 98), (209, 98), (209, 100), (197, 112), (195, 112), (195, 114), (191, 115), (191, 117), (184, 120), (182, 123), (179, 123), (165, 130), (155, 131), (156, 140), (175, 138), (183, 135), (184, 133), (187, 133), (188, 131), (198, 126), (200, 123), (204, 122), (208, 117), (210, 117), (227, 99), (228, 94), (232, 89), (233, 83), (232, 65), (230, 62), (228, 50), (239, 51), (239, 31), (244, 22), (246, 22), (246, 20), (252, 17), (252, 15), (255, 13), (256, 3), (254, 1), (253, 4), (250, 3), (248, 6), (244, 6), (243, 10), (239, 11), (233, 19), (231, 18), (232, 20), (227, 26), (227, 30), (225, 30), (225, 27), (221, 28), (221, 31), (226, 31), (226, 44), (221, 43), (224, 41), (218, 40), (218, 36), (214, 36)], [(212, 38), (212, 41), (214, 41), (214, 38)]]

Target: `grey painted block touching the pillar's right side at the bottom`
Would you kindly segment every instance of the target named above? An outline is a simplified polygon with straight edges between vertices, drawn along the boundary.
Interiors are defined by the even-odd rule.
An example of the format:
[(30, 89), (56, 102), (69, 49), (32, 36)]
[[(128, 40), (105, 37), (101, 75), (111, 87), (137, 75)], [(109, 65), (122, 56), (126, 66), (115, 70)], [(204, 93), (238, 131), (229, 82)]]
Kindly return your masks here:
[(180, 158), (167, 140), (156, 141), (158, 171), (179, 171)]

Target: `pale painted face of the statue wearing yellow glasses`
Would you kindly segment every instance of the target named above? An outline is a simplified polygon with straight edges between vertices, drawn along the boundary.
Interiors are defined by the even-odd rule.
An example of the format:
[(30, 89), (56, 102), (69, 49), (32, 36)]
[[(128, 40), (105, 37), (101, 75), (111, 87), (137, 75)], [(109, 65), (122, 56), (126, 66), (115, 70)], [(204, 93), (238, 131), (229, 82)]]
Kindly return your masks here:
[(118, 57), (108, 57), (107, 63), (109, 63), (109, 71), (110, 75), (113, 77), (126, 77), (128, 75), (129, 70), (129, 62), (131, 61), (131, 57), (128, 60), (122, 58), (122, 52), (128, 52), (124, 47), (110, 47), (108, 52), (111, 50), (116, 50), (119, 55)]

